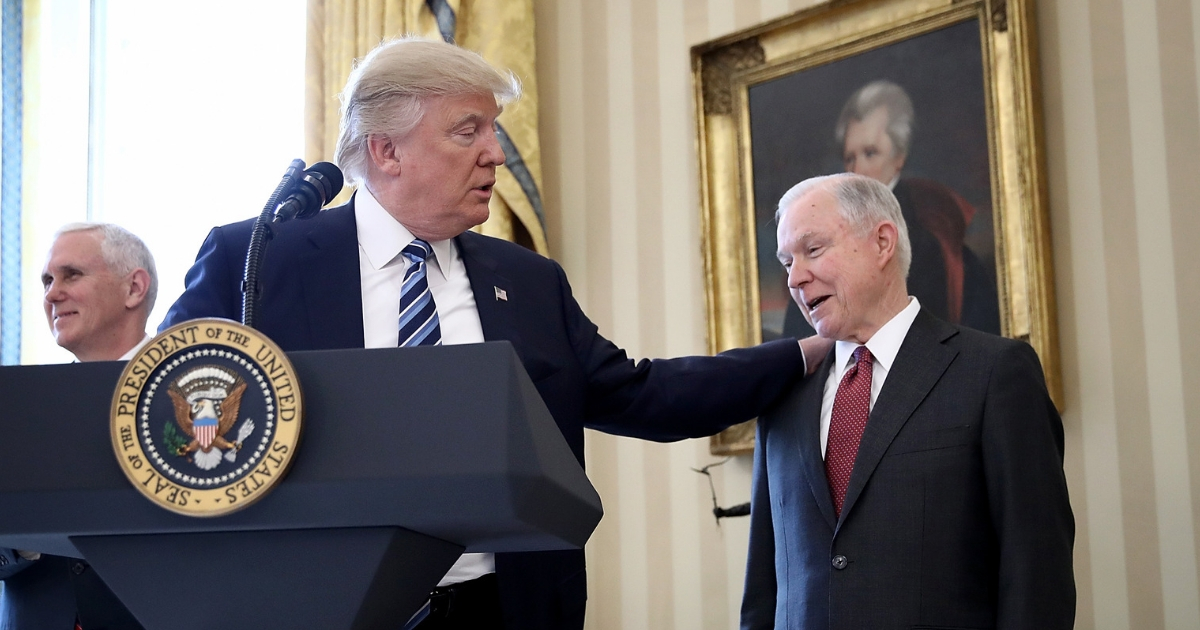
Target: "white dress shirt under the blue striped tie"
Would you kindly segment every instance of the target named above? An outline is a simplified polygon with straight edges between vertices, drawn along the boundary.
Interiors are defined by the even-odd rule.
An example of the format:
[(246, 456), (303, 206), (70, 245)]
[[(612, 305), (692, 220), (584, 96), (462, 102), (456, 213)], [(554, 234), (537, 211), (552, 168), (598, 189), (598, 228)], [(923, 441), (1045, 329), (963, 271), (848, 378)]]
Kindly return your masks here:
[[(354, 220), (359, 233), (359, 276), (362, 280), (362, 335), (367, 348), (395, 348), (400, 337), (400, 289), (408, 258), (400, 254), (413, 233), (400, 224), (366, 187), (354, 196)], [(425, 277), (438, 310), (442, 343), (481, 343), (475, 294), (467, 266), (454, 241), (433, 241)], [(438, 586), (466, 582), (496, 571), (491, 553), (463, 553)]]

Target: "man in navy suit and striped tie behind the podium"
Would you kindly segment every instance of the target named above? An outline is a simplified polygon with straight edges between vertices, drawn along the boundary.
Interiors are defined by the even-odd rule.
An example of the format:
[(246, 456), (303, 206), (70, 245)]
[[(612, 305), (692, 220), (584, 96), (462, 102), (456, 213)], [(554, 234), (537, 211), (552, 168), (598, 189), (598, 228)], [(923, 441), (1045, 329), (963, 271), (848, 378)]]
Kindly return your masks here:
[[(517, 91), (442, 42), (367, 55), (343, 92), (336, 151), (360, 186), (341, 208), (274, 228), (260, 330), (286, 350), (508, 340), (581, 464), (584, 426), (706, 436), (786, 391), (803, 373), (796, 341), (635, 364), (583, 314), (558, 264), (467, 232), (488, 216), (504, 162), (496, 119)], [(250, 222), (212, 230), (163, 326), (238, 318), (250, 233)], [(464, 554), (420, 628), (580, 629), (586, 584), (582, 551)]]

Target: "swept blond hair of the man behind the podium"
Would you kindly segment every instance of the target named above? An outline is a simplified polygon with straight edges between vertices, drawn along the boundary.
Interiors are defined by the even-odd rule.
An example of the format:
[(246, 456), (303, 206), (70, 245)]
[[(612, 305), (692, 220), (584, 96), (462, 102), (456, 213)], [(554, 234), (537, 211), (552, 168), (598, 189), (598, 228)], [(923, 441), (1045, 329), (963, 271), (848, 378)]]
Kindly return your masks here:
[(347, 184), (362, 181), (367, 138), (402, 138), (421, 121), (425, 101), (437, 96), (492, 94), (504, 106), (521, 96), (511, 72), (500, 73), (484, 58), (457, 46), (414, 36), (384, 42), (355, 64), (342, 101), (334, 161)]

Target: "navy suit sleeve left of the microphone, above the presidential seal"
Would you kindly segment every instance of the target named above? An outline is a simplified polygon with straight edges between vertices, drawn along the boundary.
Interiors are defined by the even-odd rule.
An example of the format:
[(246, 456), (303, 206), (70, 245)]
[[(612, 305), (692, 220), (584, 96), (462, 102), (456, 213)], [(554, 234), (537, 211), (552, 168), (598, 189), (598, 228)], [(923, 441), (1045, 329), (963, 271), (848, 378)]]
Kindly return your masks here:
[(230, 247), (224, 228), (212, 228), (204, 239), (196, 263), (184, 278), (184, 294), (175, 300), (158, 326), (163, 331), (180, 322), (199, 317), (223, 317), (241, 320), (241, 294), (238, 293), (241, 268), (235, 264), (241, 247)]

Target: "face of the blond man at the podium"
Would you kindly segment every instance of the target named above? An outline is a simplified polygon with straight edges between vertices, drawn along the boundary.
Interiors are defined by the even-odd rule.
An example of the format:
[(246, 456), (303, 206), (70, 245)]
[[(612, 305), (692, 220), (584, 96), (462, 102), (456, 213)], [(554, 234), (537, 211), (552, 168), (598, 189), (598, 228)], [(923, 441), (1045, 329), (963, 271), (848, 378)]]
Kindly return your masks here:
[(384, 151), (392, 198), (402, 200), (384, 206), (418, 236), (450, 239), (487, 221), (496, 167), (504, 163), (500, 107), (491, 94), (474, 94), (433, 97), (424, 109), (416, 127)]

